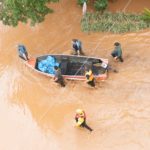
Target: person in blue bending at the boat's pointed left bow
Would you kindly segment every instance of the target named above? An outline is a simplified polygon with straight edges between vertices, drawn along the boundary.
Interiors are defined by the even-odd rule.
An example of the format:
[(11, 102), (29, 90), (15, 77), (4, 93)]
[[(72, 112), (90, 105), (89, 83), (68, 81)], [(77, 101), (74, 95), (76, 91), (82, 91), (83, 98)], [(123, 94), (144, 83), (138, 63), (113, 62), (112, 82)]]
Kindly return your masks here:
[(19, 53), (19, 57), (23, 58), (26, 61), (29, 60), (28, 52), (24, 45), (18, 45), (18, 53)]

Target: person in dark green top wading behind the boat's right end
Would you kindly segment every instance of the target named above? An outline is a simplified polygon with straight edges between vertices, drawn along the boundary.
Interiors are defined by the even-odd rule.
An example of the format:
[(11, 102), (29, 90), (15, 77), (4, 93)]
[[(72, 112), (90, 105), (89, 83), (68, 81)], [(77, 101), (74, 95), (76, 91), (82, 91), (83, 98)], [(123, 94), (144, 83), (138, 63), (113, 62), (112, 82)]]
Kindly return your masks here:
[(119, 60), (120, 62), (123, 62), (121, 44), (119, 42), (115, 42), (114, 46), (115, 49), (111, 53), (112, 57), (115, 60)]

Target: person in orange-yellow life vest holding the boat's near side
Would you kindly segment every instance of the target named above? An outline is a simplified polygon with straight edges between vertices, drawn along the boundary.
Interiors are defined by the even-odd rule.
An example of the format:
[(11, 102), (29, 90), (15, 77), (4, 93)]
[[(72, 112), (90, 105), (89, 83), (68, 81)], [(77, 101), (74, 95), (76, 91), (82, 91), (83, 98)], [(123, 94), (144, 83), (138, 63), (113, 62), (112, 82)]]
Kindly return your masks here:
[(88, 85), (95, 87), (94, 75), (91, 69), (87, 69), (85, 72), (86, 82)]

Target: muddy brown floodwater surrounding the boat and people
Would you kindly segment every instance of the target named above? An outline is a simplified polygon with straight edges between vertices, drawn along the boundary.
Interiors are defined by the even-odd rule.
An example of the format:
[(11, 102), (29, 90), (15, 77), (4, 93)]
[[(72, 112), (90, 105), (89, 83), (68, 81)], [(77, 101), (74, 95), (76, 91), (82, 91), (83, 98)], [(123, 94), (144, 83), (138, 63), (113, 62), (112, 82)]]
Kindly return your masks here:
[[(0, 150), (149, 150), (150, 30), (82, 33), (75, 0), (51, 5), (55, 13), (35, 27), (0, 25)], [(144, 7), (150, 8), (149, 0), (118, 0), (109, 9)], [(18, 43), (31, 55), (69, 54), (72, 38), (82, 40), (87, 55), (109, 58), (119, 73), (110, 73), (94, 90), (73, 81), (59, 88), (17, 57)], [(124, 63), (110, 58), (115, 41), (122, 44)], [(76, 108), (86, 111), (92, 133), (74, 127)]]

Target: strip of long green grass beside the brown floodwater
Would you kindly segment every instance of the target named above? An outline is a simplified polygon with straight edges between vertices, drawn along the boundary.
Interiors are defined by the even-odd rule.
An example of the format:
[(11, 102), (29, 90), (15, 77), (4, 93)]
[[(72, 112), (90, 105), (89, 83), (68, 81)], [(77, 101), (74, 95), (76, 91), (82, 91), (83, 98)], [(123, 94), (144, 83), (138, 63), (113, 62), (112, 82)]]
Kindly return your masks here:
[(150, 23), (142, 19), (142, 15), (131, 13), (87, 13), (81, 20), (84, 32), (136, 32), (150, 28)]

